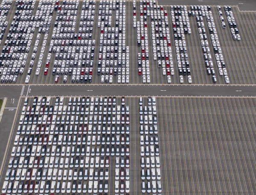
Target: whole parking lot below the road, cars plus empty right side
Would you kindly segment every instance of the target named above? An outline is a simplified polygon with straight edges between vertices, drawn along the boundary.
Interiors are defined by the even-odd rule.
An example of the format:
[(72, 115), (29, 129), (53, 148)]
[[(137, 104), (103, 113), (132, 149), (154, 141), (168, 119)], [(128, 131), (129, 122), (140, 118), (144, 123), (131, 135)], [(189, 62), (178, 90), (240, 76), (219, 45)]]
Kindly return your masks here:
[[(21, 194), (26, 190), (29, 193), (60, 190), (61, 194), (69, 190), (75, 194), (106, 190), (106, 194), (122, 194), (127, 181), (130, 194), (149, 192), (148, 182), (151, 185), (148, 194), (153, 194), (153, 190), (157, 194), (256, 191), (254, 98), (156, 97), (154, 103), (154, 97), (151, 101), (148, 97), (111, 97), (110, 105), (109, 97), (102, 97), (102, 101), (99, 97), (98, 106), (97, 98), (51, 97), (47, 103), (47, 97), (31, 97), (25, 108), (26, 100), (21, 98), (14, 143), (10, 143), (1, 186), (11, 182), (12, 190), (22, 189), (18, 192)], [(36, 100), (38, 103), (33, 106)], [(48, 112), (46, 117), (45, 112)], [(110, 112), (112, 118), (108, 118)], [(32, 116), (38, 119), (32, 120)]]

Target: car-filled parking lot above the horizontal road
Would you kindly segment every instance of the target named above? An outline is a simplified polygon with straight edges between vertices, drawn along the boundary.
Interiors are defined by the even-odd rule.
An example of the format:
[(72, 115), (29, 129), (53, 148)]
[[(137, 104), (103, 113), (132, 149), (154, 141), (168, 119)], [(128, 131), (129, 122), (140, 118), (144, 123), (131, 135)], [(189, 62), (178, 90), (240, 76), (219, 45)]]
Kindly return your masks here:
[[(241, 37), (239, 41), (233, 40), (224, 6), (220, 10), (226, 28), (221, 26), (217, 6), (210, 7), (215, 27), (207, 24), (207, 14), (200, 19), (206, 29), (203, 39), (209, 43), (209, 49), (204, 46), (205, 54), (212, 61), (208, 70), (198, 33), (199, 16), (183, 20), (192, 11), (190, 6), (183, 6), (183, 10), (179, 6), (177, 11), (181, 14), (176, 20), (172, 18), (176, 16), (172, 13), (176, 11), (174, 6), (159, 6), (154, 1), (118, 4), (115, 1), (13, 1), (11, 5), (3, 1), (3, 4), (10, 10), (2, 19), (3, 25), (8, 21), (0, 45), (3, 56), (0, 74), (4, 83), (211, 84), (215, 77), (217, 84), (226, 84), (224, 77), (228, 76), (230, 84), (255, 84), (255, 14), (239, 12), (236, 6), (230, 9)], [(208, 8), (204, 12), (208, 13)], [(185, 22), (186, 27), (174, 27), (173, 19)], [(213, 33), (221, 48), (217, 54), (223, 55), (225, 67), (215, 60), (212, 32), (208, 27), (215, 29)], [(179, 32), (184, 34), (180, 35), (184, 43), (175, 43), (175, 34)], [(26, 43), (20, 43), (22, 37)], [(141, 60), (138, 60), (139, 53)], [(225, 70), (221, 73), (220, 68)]]

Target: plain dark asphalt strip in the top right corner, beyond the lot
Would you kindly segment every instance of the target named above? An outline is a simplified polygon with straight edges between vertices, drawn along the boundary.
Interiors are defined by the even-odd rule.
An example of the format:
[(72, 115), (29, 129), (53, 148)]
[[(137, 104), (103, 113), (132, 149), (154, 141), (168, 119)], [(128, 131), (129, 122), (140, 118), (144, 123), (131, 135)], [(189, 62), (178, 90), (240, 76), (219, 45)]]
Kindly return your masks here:
[(203, 5), (203, 6), (239, 6), (240, 11), (255, 11), (256, 4), (254, 0), (158, 0), (159, 5)]

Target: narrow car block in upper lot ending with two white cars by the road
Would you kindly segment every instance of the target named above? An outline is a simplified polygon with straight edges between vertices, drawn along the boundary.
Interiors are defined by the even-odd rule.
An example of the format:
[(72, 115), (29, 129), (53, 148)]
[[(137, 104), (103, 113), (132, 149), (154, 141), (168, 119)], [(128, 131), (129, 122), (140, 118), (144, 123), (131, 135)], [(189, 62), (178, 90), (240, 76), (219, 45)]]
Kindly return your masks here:
[[(190, 28), (189, 23), (189, 17), (188, 17), (188, 11), (186, 6), (183, 6), (184, 10), (180, 10), (176, 8), (177, 6), (174, 6), (172, 10), (172, 23), (173, 23), (173, 32), (174, 34), (177, 34), (177, 37), (179, 37), (179, 34), (181, 34), (181, 37), (185, 36), (188, 28)], [(191, 72), (189, 68), (189, 59), (187, 54), (187, 48), (186, 48), (186, 40), (185, 38), (183, 40), (175, 39), (175, 52), (177, 57), (177, 64), (178, 64), (178, 72), (180, 77), (180, 83), (184, 83), (184, 78), (187, 76), (188, 83), (192, 83), (192, 77)]]

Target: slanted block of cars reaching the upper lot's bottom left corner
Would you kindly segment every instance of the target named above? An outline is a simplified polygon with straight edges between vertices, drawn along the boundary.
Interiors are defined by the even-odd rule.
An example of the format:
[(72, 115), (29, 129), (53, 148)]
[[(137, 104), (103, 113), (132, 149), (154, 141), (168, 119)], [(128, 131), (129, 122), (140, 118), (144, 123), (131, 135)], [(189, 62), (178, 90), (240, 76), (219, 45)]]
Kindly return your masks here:
[[(17, 11), (12, 19), (9, 34), (7, 34), (2, 53), (0, 54), (0, 82), (16, 83), (18, 75), (22, 75), (29, 48), (35, 32), (32, 21), (32, 11), (35, 3), (32, 1), (16, 1)], [(7, 27), (7, 23), (4, 23)]]

